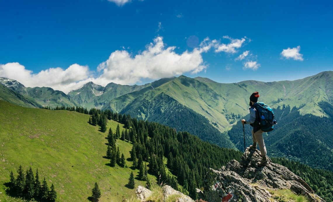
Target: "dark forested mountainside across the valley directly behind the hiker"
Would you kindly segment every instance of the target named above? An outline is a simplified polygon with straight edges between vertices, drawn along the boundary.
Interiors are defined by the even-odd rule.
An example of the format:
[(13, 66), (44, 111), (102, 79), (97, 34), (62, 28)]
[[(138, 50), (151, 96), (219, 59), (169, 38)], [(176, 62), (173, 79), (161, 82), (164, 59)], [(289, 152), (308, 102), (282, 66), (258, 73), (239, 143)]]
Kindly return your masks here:
[[(333, 106), (326, 106), (328, 114)], [(296, 107), (278, 107), (274, 110), (277, 125), (272, 132), (264, 133), (264, 141), (269, 157), (285, 157), (312, 168), (333, 171), (333, 118), (311, 114), (300, 115)], [(249, 115), (245, 117), (247, 120)], [(252, 144), (252, 127), (245, 124), (246, 145)], [(243, 128), (239, 122), (228, 131), (230, 140), (240, 151), (244, 150)]]

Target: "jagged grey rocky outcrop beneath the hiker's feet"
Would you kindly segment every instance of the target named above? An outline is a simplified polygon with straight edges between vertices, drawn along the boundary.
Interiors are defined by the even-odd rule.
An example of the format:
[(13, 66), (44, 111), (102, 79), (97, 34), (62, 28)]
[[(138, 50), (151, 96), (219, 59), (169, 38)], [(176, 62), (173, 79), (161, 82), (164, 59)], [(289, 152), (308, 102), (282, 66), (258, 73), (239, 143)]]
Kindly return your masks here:
[(261, 160), (258, 150), (247, 148), (240, 162), (230, 161), (218, 170), (209, 168), (204, 181), (204, 200), (209, 202), (271, 202), (274, 196), (269, 192), (277, 189), (289, 189), (297, 195), (303, 195), (309, 201), (324, 202), (311, 187), (288, 168), (273, 164), (259, 167)]

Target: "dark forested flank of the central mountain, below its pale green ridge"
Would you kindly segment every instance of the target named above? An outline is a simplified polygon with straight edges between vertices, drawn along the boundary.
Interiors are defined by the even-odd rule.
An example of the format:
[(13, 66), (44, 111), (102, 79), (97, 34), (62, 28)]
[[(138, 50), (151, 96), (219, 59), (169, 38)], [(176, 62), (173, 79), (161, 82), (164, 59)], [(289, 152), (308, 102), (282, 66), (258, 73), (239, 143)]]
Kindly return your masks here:
[(121, 113), (126, 112), (132, 117), (137, 117), (138, 111), (147, 114), (148, 121), (170, 126), (175, 128), (176, 131), (187, 131), (203, 141), (220, 147), (234, 148), (229, 138), (212, 126), (208, 119), (175, 101), (165, 93), (161, 93), (151, 101), (140, 102), (139, 104), (131, 103)]

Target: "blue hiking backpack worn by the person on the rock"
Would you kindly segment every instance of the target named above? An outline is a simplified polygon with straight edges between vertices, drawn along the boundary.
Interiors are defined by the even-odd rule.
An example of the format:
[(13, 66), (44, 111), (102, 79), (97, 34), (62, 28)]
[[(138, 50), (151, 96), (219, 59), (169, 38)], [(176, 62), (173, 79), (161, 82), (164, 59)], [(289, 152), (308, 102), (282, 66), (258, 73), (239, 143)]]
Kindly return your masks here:
[(256, 102), (253, 106), (257, 109), (260, 129), (264, 132), (274, 130), (276, 123), (273, 110), (263, 102)]

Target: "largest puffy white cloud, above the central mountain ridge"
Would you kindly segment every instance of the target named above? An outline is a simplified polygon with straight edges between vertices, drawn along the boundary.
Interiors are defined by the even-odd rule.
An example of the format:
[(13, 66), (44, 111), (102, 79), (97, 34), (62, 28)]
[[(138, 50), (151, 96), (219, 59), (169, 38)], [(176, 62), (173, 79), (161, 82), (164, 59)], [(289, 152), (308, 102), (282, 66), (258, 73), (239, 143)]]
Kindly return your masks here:
[(206, 68), (201, 53), (207, 52), (211, 43), (204, 39), (199, 48), (177, 54), (175, 46), (165, 47), (162, 37), (156, 37), (146, 50), (132, 56), (126, 50), (111, 53), (109, 59), (101, 63), (99, 71), (102, 75), (94, 82), (106, 85), (110, 82), (118, 84), (135, 84), (141, 79), (160, 79), (181, 75), (186, 72), (198, 73)]

